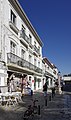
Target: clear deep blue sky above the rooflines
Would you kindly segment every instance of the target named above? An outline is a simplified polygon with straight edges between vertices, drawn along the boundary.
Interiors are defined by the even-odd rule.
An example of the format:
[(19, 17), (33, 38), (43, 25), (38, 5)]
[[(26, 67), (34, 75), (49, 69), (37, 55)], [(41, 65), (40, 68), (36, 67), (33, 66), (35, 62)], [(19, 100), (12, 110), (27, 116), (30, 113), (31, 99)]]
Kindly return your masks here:
[(40, 36), (43, 56), (71, 73), (71, 0), (19, 0)]

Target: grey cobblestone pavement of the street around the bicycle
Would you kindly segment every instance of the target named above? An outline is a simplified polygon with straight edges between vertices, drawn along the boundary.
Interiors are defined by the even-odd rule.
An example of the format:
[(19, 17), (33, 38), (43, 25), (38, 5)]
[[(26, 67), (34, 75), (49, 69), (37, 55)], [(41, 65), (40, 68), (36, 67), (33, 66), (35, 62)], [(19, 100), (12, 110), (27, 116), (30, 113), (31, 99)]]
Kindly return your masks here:
[(42, 92), (36, 92), (33, 97), (24, 96), (23, 102), (16, 106), (0, 106), (0, 120), (23, 120), (24, 111), (32, 104), (32, 99), (38, 99), (40, 115), (33, 120), (71, 120), (71, 94), (56, 94), (51, 101), (47, 96), (47, 105)]

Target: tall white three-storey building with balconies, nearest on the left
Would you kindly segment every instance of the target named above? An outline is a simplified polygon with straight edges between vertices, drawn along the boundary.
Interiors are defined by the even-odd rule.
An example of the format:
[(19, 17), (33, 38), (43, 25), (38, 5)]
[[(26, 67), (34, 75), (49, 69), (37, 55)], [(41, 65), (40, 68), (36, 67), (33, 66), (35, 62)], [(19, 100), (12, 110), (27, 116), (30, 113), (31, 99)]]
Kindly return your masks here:
[(33, 90), (42, 87), (42, 41), (18, 0), (0, 0), (2, 91), (7, 91), (9, 81), (16, 88), (27, 81)]

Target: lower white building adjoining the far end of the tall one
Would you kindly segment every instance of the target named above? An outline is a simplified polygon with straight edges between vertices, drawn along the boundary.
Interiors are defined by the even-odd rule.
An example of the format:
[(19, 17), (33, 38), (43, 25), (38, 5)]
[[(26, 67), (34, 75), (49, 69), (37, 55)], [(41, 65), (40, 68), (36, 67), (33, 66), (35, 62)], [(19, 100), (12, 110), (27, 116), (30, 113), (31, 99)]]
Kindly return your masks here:
[(48, 87), (55, 86), (58, 80), (58, 69), (46, 57), (43, 58), (43, 84), (47, 82)]

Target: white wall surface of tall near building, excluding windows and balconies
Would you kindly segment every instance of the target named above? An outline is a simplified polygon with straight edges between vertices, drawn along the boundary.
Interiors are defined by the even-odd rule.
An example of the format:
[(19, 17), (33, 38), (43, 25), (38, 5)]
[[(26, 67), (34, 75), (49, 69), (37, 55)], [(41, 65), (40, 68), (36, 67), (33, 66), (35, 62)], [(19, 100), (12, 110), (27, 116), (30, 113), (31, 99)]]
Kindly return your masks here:
[[(12, 24), (11, 23), (11, 10), (13, 11), (13, 13), (16, 16), (16, 26), (14, 25), (14, 27), (15, 27), (14, 29), (16, 29), (16, 31), (18, 31), (18, 34), (16, 34), (16, 32), (10, 27)], [(35, 38), (35, 36), (31, 32), (31, 30), (29, 29), (29, 27), (25, 24), (24, 20), (20, 17), (20, 13), (14, 9), (13, 5), (8, 0), (0, 0), (0, 15), (1, 15), (1, 18), (0, 18), (0, 33), (1, 33), (1, 35), (0, 35), (0, 52), (2, 52), (2, 61), (6, 62), (6, 65), (8, 65), (7, 54), (11, 52), (10, 42), (12, 41), (16, 45), (15, 55), (17, 55), (21, 58), (22, 57), (21, 49), (23, 49), (25, 51), (24, 59), (29, 62), (29, 55), (31, 55), (31, 57), (32, 57), (31, 63), (34, 65), (34, 59), (36, 59), (36, 67), (42, 69), (42, 46), (40, 45), (40, 42), (38, 42), (38, 40)], [(36, 47), (40, 47), (40, 56), (38, 55), (38, 53), (36, 53), (36, 56), (35, 56), (33, 54), (34, 48), (30, 48), (29, 44), (27, 42), (25, 42), (23, 39), (22, 39), (22, 41), (25, 42), (24, 44), (26, 44), (27, 47), (24, 44), (21, 44), (20, 32), (22, 29), (22, 25), (25, 28), (25, 34), (27, 35), (27, 37), (29, 37), (29, 34), (32, 37), (32, 46), (34, 46), (34, 41), (35, 41)], [(12, 27), (13, 27), (13, 24), (12, 24)], [(40, 63), (40, 65), (38, 65), (38, 62)], [(21, 69), (23, 69), (23, 68), (21, 68)], [(0, 78), (2, 86), (5, 85), (5, 83), (6, 83), (4, 81), (4, 79), (7, 80), (7, 71), (8, 70), (9, 69), (6, 69), (6, 77)], [(31, 73), (29, 73), (30, 70), (29, 70), (29, 72), (27, 72), (27, 69), (25, 69), (25, 70), (26, 70), (26, 74), (27, 75), (30, 74), (31, 79), (34, 80), (34, 75), (32, 75), (32, 71), (31, 71)], [(42, 75), (40, 75), (40, 73), (38, 73), (36, 71), (33, 74), (35, 74), (35, 76), (37, 78), (40, 78), (42, 80)], [(31, 80), (31, 82), (32, 82), (32, 80)], [(41, 86), (42, 86), (41, 83), (42, 82), (40, 82), (39, 88), (41, 88)], [(34, 82), (31, 84), (32, 84), (31, 87), (34, 90)], [(38, 88), (38, 83), (36, 83), (36, 89), (39, 89), (39, 88)]]

